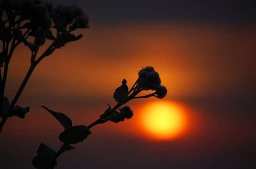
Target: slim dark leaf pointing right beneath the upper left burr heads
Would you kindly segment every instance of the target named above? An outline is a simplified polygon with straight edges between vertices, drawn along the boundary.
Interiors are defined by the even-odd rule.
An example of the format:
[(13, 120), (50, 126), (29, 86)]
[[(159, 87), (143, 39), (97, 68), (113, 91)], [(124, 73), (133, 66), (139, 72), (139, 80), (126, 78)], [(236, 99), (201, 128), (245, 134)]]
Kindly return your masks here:
[(54, 43), (54, 46), (56, 48), (60, 48), (62, 46), (65, 46), (66, 43), (69, 43), (71, 41), (79, 40), (82, 37), (82, 35), (75, 36), (73, 34), (61, 34)]

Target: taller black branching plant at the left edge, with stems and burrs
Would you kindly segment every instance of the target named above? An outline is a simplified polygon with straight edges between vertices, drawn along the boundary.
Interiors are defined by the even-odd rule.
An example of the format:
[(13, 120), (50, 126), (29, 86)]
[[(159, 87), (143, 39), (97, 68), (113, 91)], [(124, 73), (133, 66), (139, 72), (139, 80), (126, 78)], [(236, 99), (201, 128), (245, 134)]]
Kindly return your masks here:
[[(82, 35), (71, 34), (78, 28), (88, 27), (88, 17), (76, 5), (59, 5), (40, 0), (2, 0), (0, 1), (0, 132), (7, 119), (12, 116), (24, 118), (29, 107), (15, 105), (37, 64), (66, 43), (79, 40)], [(53, 25), (52, 25), (53, 24)], [(53, 32), (51, 31), (53, 28)], [(55, 34), (55, 36), (53, 35)], [(51, 41), (44, 52), (39, 48), (46, 40)], [(16, 95), (9, 104), (5, 95), (8, 66), (15, 48), (23, 43), (31, 51), (30, 67)], [(40, 54), (39, 54), (40, 53)], [(3, 70), (2, 70), (3, 69)], [(3, 72), (2, 72), (3, 71)]]

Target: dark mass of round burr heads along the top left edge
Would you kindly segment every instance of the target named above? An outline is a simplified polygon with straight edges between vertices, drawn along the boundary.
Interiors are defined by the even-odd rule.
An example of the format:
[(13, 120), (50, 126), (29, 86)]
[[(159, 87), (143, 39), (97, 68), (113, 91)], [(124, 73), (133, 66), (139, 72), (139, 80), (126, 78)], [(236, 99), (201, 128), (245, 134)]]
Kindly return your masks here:
[(52, 3), (42, 3), (41, 0), (0, 0), (0, 8), (14, 11), (20, 15), (20, 20), (29, 19), (33, 27), (42, 31), (50, 29), (52, 20), (61, 31), (67, 31), (68, 25), (71, 30), (87, 28), (89, 22), (83, 9), (76, 5), (58, 5), (54, 8)]

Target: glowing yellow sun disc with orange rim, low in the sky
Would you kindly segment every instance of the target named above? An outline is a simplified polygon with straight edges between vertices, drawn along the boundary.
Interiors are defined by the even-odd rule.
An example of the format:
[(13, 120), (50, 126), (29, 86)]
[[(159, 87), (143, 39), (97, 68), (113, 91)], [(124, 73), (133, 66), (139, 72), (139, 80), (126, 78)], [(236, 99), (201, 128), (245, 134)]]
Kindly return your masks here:
[(155, 138), (176, 138), (184, 130), (184, 114), (173, 102), (153, 102), (147, 104), (142, 111), (142, 125)]

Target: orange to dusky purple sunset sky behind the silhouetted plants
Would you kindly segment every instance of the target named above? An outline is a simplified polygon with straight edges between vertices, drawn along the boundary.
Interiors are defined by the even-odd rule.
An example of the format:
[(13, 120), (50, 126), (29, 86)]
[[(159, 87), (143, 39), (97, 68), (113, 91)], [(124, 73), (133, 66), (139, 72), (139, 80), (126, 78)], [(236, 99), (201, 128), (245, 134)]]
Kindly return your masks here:
[[(8, 119), (0, 135), (0, 168), (33, 168), (40, 143), (58, 150), (62, 126), (40, 106), (89, 125), (115, 105), (123, 78), (131, 88), (153, 66), (165, 98), (128, 102), (134, 117), (97, 125), (56, 168), (255, 168), (256, 11), (253, 1), (52, 1), (76, 4), (90, 19), (68, 43), (42, 60), (18, 101), (25, 119)], [(12, 98), (30, 64), (19, 46), (6, 95)], [(179, 107), (182, 133), (156, 139), (142, 125), (143, 107)]]

